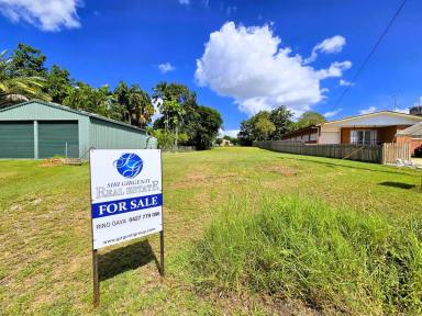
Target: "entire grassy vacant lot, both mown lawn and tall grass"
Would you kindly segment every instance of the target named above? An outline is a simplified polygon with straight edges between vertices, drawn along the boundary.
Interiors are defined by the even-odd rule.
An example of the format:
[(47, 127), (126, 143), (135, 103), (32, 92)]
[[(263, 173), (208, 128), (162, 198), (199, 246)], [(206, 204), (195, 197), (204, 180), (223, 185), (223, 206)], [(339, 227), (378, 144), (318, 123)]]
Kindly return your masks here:
[[(365, 293), (359, 293), (357, 298), (365, 302), (359, 307), (353, 306), (353, 296), (338, 296), (349, 289), (354, 293), (366, 290), (362, 284), (347, 284), (347, 278), (364, 273), (356, 280), (366, 282), (362, 266), (374, 264), (373, 259), (382, 255), (375, 252), (382, 249), (409, 255), (403, 259), (391, 253), (399, 260), (393, 260), (391, 269), (406, 267), (414, 274), (403, 274), (410, 278), (411, 290), (398, 295), (417, 302), (414, 294), (422, 291), (422, 230), (418, 226), (422, 193), (417, 171), (256, 148), (169, 154), (164, 168), (167, 275), (160, 280), (156, 269), (157, 236), (104, 249), (100, 252), (101, 307), (93, 311), (88, 166), (0, 161), (0, 314), (265, 315), (313, 314), (315, 307), (333, 314), (402, 312), (384, 308), (384, 285), (376, 283), (386, 280), (382, 275), (400, 276), (400, 271), (396, 275), (379, 269), (381, 279), (369, 278), (375, 284), (368, 289), (380, 301), (365, 301)], [(345, 230), (331, 229), (330, 223)], [(313, 232), (315, 227), (321, 232)], [(289, 229), (290, 235), (277, 235)], [(324, 234), (325, 229), (329, 233)], [(260, 235), (248, 234), (258, 230), (266, 230), (262, 235), (265, 242)], [(303, 234), (297, 234), (300, 232)], [(237, 239), (218, 240), (219, 236)], [(318, 244), (319, 236), (324, 242), (326, 238), (335, 238), (335, 242)], [(375, 252), (360, 247), (355, 256), (347, 240), (384, 244), (368, 244)], [(290, 248), (281, 247), (282, 242)], [(297, 242), (306, 246), (295, 252), (291, 247)], [(291, 260), (290, 255), (309, 255), (321, 245), (322, 252)], [(266, 252), (277, 247), (278, 252)], [(334, 253), (341, 249), (346, 255)], [(315, 273), (314, 269), (324, 266), (321, 253), (330, 263), (340, 258), (344, 269), (349, 269), (344, 280), (334, 272), (332, 278)], [(280, 256), (287, 259), (279, 260)], [(260, 262), (260, 258), (265, 260)], [(231, 260), (235, 264), (230, 266)], [(314, 264), (315, 260), (322, 266)], [(355, 261), (349, 264), (347, 260)], [(249, 261), (247, 267), (243, 263)], [(199, 266), (192, 268), (192, 262)], [(410, 270), (406, 264), (414, 267)], [(332, 268), (336, 273), (342, 271), (342, 267)], [(244, 278), (240, 273), (245, 273)], [(400, 279), (399, 283), (409, 280)]]

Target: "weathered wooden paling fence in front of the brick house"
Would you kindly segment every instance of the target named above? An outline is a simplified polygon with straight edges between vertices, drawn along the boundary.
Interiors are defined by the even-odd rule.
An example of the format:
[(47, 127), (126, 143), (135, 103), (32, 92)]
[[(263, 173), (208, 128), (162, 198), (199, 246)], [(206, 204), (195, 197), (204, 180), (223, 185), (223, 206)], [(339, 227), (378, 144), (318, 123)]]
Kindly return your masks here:
[(398, 158), (410, 160), (408, 144), (384, 145), (303, 144), (291, 140), (254, 142), (255, 147), (289, 154), (349, 159), (377, 163), (395, 163)]

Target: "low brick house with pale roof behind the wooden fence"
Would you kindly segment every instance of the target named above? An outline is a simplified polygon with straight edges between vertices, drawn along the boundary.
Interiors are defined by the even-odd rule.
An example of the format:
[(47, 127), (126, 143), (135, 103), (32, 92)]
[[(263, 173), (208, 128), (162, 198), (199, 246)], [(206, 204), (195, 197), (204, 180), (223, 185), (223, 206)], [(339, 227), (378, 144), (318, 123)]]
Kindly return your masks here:
[(306, 144), (366, 144), (396, 142), (396, 135), (422, 122), (421, 115), (380, 111), (308, 126), (282, 136)]

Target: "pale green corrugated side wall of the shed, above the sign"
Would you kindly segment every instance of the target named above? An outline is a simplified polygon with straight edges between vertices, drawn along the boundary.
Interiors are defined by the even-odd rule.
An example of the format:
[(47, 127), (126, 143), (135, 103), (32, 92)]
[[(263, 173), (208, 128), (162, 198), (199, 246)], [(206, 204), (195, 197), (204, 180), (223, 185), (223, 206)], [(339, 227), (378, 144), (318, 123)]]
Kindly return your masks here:
[(90, 117), (90, 146), (97, 149), (156, 148), (156, 139), (142, 129)]

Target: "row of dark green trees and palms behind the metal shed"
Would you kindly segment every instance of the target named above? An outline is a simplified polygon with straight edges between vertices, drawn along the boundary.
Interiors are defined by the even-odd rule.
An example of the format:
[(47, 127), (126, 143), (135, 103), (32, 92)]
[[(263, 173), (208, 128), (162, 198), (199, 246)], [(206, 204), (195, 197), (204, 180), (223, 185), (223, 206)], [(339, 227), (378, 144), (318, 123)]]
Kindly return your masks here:
[[(210, 148), (222, 126), (220, 113), (198, 104), (196, 93), (184, 84), (159, 82), (151, 94), (124, 81), (114, 89), (95, 88), (58, 65), (47, 68), (46, 59), (40, 49), (22, 43), (11, 53), (0, 53), (0, 108), (31, 99), (51, 101), (145, 128), (160, 147)], [(160, 117), (151, 126), (154, 104)]]

